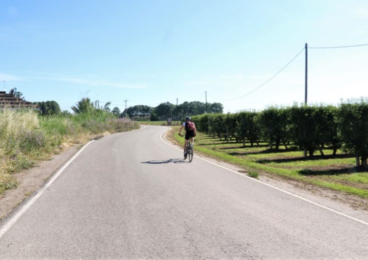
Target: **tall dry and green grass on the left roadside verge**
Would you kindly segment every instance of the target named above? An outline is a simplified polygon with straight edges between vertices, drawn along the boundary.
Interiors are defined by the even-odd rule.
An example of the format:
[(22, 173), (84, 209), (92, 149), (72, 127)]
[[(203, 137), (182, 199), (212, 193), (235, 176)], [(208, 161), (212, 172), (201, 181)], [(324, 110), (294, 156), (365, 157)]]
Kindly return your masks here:
[(33, 166), (37, 159), (57, 153), (64, 143), (83, 142), (91, 135), (137, 128), (137, 122), (117, 119), (102, 110), (47, 117), (29, 110), (0, 110), (0, 194), (18, 185), (13, 173)]

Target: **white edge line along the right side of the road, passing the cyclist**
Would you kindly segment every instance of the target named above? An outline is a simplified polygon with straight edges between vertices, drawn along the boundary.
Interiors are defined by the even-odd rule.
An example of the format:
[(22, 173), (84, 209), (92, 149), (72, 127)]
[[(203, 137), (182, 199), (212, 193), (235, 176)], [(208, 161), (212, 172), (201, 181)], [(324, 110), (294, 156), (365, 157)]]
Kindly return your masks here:
[[(167, 130), (166, 130), (166, 131), (167, 131)], [(160, 135), (161, 140), (162, 140), (164, 143), (166, 143), (167, 145), (169, 145), (169, 146), (171, 146), (171, 147), (173, 147), (173, 148), (175, 148), (175, 149), (177, 149), (177, 150), (179, 150), (179, 151), (182, 151), (181, 149), (179, 149), (179, 148), (177, 148), (177, 147), (175, 147), (175, 146), (173, 146), (173, 145), (169, 144), (169, 143), (168, 143), (168, 142), (166, 142), (165, 140), (163, 140), (162, 135), (163, 135), (166, 131), (164, 131), (164, 132), (162, 132), (162, 133), (161, 133), (161, 135)], [(286, 194), (289, 194), (289, 195), (291, 195), (291, 196), (294, 196), (294, 197), (296, 197), (296, 198), (298, 198), (298, 199), (301, 199), (301, 200), (303, 200), (303, 201), (306, 201), (306, 202), (312, 203), (312, 204), (314, 204), (314, 205), (316, 205), (316, 206), (318, 206), (318, 207), (325, 208), (325, 209), (327, 209), (327, 210), (330, 210), (330, 211), (332, 211), (332, 212), (335, 212), (335, 213), (340, 214), (340, 215), (342, 215), (342, 216), (344, 216), (344, 217), (350, 218), (350, 219), (352, 219), (352, 220), (358, 221), (359, 223), (362, 223), (362, 224), (364, 224), (364, 225), (367, 225), (367, 226), (368, 226), (368, 222), (366, 222), (366, 221), (364, 221), (364, 220), (361, 220), (361, 219), (358, 219), (358, 218), (355, 218), (355, 217), (349, 216), (349, 215), (347, 215), (347, 214), (345, 214), (345, 213), (342, 213), (342, 212), (340, 212), (340, 211), (338, 211), (338, 210), (336, 210), (336, 209), (326, 207), (326, 206), (324, 206), (324, 205), (322, 205), (322, 204), (319, 204), (319, 203), (317, 203), (317, 202), (314, 202), (314, 201), (311, 201), (311, 200), (309, 200), (309, 199), (303, 198), (303, 197), (301, 197), (301, 196), (299, 196), (299, 195), (296, 195), (296, 194), (294, 194), (294, 193), (291, 193), (291, 192), (289, 192), (289, 191), (287, 191), (287, 190), (283, 190), (283, 189), (281, 189), (281, 188), (278, 188), (278, 187), (273, 186), (273, 185), (271, 185), (271, 184), (268, 184), (268, 183), (266, 183), (266, 182), (262, 182), (262, 181), (260, 181), (260, 180), (255, 179), (255, 178), (252, 178), (252, 177), (246, 176), (246, 175), (241, 174), (241, 173), (239, 173), (239, 172), (237, 172), (237, 171), (234, 171), (234, 170), (232, 170), (232, 169), (226, 168), (226, 167), (224, 167), (224, 166), (222, 166), (222, 165), (220, 165), (220, 164), (217, 164), (217, 163), (211, 162), (211, 161), (206, 160), (206, 159), (204, 159), (204, 158), (201, 158), (201, 157), (199, 157), (199, 156), (194, 156), (194, 157), (196, 157), (196, 158), (198, 158), (198, 159), (201, 159), (201, 160), (204, 160), (204, 161), (206, 161), (206, 162), (209, 162), (209, 163), (211, 163), (211, 164), (213, 164), (213, 165), (216, 165), (216, 166), (218, 166), (218, 167), (221, 167), (221, 168), (223, 168), (223, 169), (225, 169), (225, 170), (228, 170), (228, 171), (231, 171), (231, 172), (233, 172), (233, 173), (236, 173), (236, 174), (238, 174), (238, 175), (240, 175), (240, 176), (242, 176), (242, 177), (248, 178), (249, 180), (252, 180), (252, 181), (254, 181), (254, 182), (262, 183), (263, 185), (266, 185), (266, 186), (269, 186), (269, 187), (271, 187), (271, 188), (277, 189), (277, 190), (279, 190), (279, 191), (281, 191), (281, 192), (284, 192), (284, 193), (286, 193)]]

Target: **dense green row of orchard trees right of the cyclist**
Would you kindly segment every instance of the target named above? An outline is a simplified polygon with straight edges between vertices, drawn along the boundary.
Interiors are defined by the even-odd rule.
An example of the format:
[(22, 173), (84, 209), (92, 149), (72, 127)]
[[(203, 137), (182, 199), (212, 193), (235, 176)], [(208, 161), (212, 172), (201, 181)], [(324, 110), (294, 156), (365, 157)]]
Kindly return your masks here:
[(235, 139), (250, 146), (267, 142), (270, 149), (304, 151), (310, 157), (323, 149), (338, 149), (357, 158), (357, 166), (368, 168), (368, 99), (349, 100), (338, 106), (293, 105), (268, 107), (261, 112), (205, 114), (192, 117), (197, 130), (212, 136)]

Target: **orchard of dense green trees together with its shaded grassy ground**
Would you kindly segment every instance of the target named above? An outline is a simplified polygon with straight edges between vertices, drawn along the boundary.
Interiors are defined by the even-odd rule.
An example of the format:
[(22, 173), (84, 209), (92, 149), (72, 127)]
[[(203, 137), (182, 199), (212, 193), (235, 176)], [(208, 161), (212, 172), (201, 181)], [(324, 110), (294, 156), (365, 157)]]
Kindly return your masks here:
[[(368, 198), (368, 101), (193, 116), (195, 151), (243, 168)], [(175, 140), (183, 138), (173, 131)]]

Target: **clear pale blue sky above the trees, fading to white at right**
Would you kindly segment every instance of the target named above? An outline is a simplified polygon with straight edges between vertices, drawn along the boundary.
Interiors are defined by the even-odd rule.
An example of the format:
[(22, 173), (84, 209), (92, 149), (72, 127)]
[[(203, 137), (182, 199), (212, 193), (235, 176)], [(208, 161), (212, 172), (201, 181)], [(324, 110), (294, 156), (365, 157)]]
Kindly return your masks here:
[[(0, 89), (70, 110), (82, 97), (220, 102), (224, 112), (304, 102), (309, 47), (368, 44), (366, 0), (1, 0)], [(308, 102), (368, 96), (368, 46), (308, 49)], [(241, 97), (241, 98), (238, 98)]]

